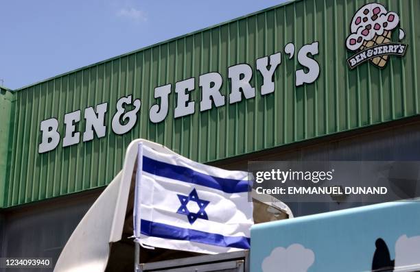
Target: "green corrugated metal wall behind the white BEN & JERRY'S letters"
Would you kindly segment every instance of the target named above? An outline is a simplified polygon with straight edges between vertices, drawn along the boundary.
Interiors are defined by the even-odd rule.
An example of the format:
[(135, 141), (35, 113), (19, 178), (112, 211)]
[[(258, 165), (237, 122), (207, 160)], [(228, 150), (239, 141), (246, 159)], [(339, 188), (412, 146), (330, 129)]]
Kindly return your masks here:
[[(345, 48), (349, 24), (367, 1), (303, 0), (18, 90), (4, 206), (108, 184), (121, 169), (124, 149), (134, 138), (163, 143), (193, 160), (209, 162), (418, 114), (420, 24), (415, 15), (420, 14), (420, 1), (379, 2), (399, 14), (400, 26), (406, 30), (404, 42), (409, 45), (404, 58), (390, 57), (383, 70), (366, 63), (350, 71), (346, 64), (351, 55)], [(294, 42), (300, 49), (314, 40), (319, 41), (315, 59), (320, 77), (314, 84), (295, 88), (294, 72), (301, 66), (296, 55), (285, 58), (283, 48)], [(261, 97), (262, 78), (255, 71), (255, 60), (277, 51), (282, 52), (282, 60), (275, 74), (275, 92)], [(253, 66), (255, 99), (226, 103), (202, 114), (196, 108), (194, 115), (174, 120), (172, 90), (167, 118), (157, 125), (150, 123), (154, 87), (218, 71), (224, 78), (222, 93), (227, 95), (227, 67), (242, 62)], [(115, 103), (131, 94), (142, 101), (139, 121), (128, 134), (117, 136), (110, 129)], [(198, 80), (192, 97), (200, 101)], [(40, 121), (58, 118), (64, 135), (66, 112), (104, 101), (108, 101), (106, 137), (38, 154)], [(78, 130), (84, 130), (83, 118)]]

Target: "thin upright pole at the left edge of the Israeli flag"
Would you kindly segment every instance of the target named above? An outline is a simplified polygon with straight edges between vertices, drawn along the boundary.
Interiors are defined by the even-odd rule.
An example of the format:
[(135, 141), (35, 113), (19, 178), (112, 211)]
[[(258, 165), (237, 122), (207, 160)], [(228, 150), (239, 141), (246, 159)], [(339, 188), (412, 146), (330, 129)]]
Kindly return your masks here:
[(141, 234), (141, 219), (140, 214), (140, 183), (141, 172), (143, 171), (143, 143), (139, 143), (139, 150), (137, 152), (137, 171), (136, 171), (136, 184), (135, 184), (135, 203), (133, 209), (133, 223), (135, 235), (135, 272), (141, 272), (140, 266), (140, 234)]

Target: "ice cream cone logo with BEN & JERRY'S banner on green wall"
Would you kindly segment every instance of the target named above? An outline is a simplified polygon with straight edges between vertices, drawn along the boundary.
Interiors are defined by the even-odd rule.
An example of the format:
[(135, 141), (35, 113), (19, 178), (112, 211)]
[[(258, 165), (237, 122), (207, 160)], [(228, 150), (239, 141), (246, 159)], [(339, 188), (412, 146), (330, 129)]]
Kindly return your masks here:
[[(388, 12), (383, 5), (369, 3), (362, 6), (351, 20), (351, 34), (346, 40), (347, 49), (357, 52), (347, 59), (350, 68), (367, 60), (383, 68), (390, 55), (405, 55), (407, 45), (391, 41), (391, 34), (398, 26), (398, 14)], [(399, 40), (404, 36), (404, 30), (399, 29)]]

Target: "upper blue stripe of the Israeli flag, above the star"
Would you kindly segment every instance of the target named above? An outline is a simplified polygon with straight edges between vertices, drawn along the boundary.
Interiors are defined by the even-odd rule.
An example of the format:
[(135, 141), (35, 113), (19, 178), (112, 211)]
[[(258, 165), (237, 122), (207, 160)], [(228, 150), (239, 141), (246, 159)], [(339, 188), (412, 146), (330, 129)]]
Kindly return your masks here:
[(217, 190), (222, 190), (224, 193), (245, 193), (250, 189), (250, 182), (248, 180), (233, 180), (225, 179), (223, 177), (213, 177), (206, 175), (185, 166), (178, 166), (168, 164), (166, 162), (159, 162), (143, 156), (143, 171), (161, 177), (167, 177), (172, 180), (179, 180), (180, 182), (188, 182)]

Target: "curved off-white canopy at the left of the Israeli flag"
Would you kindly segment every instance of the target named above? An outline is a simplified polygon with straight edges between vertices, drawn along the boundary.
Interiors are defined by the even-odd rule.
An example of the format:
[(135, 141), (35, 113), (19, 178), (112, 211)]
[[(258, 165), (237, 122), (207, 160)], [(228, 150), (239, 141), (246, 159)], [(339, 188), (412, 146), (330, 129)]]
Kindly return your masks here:
[(137, 146), (148, 145), (163, 153), (174, 153), (148, 140), (134, 140), (126, 151), (123, 169), (86, 212), (62, 249), (54, 271), (105, 271), (110, 243), (121, 240)]

